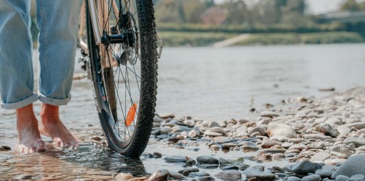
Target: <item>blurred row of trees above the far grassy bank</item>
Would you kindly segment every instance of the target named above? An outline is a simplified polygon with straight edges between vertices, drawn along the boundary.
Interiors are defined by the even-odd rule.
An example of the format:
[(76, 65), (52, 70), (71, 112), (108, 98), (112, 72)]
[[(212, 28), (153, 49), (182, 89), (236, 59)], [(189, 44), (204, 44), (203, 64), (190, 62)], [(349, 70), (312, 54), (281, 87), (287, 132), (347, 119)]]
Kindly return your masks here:
[[(210, 25), (310, 25), (315, 17), (305, 14), (305, 0), (154, 0), (158, 23)], [(253, 3), (255, 2), (255, 3)], [(340, 10), (365, 10), (365, 2), (346, 1)]]

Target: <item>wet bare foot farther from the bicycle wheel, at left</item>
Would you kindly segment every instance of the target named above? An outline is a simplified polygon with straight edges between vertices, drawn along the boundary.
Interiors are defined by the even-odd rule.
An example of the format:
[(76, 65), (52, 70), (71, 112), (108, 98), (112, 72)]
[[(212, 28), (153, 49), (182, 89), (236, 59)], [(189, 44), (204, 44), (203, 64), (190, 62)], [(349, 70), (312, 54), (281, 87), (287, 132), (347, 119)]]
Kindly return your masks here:
[(18, 130), (18, 145), (16, 150), (21, 153), (43, 152), (45, 142), (40, 139), (38, 120), (34, 115), (33, 105), (16, 109), (16, 129)]

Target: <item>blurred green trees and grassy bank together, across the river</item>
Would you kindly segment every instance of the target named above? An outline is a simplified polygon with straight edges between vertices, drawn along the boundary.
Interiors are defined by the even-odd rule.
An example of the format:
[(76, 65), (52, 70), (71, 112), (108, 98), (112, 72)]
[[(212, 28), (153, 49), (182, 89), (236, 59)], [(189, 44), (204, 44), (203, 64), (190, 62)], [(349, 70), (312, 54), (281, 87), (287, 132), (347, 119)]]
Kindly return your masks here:
[[(153, 0), (155, 19), (164, 46), (207, 46), (240, 33), (247, 44), (323, 44), (364, 42), (365, 22), (320, 21), (306, 14), (305, 0)], [(36, 46), (35, 0), (32, 2), (32, 36)], [(344, 1), (338, 11), (365, 11), (365, 2)], [(364, 20), (365, 21), (365, 20)]]

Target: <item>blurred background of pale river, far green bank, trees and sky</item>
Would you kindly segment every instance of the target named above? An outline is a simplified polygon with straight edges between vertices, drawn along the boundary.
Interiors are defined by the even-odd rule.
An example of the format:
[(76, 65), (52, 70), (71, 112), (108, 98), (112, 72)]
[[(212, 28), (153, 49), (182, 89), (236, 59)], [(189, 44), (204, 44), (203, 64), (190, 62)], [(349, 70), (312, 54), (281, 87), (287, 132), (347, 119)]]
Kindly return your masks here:
[[(255, 117), (297, 98), (365, 85), (365, 1), (154, 2), (164, 45), (158, 113), (211, 120)], [(32, 8), (36, 47), (34, 15)], [(89, 81), (75, 81), (72, 94), (65, 112), (97, 121)]]

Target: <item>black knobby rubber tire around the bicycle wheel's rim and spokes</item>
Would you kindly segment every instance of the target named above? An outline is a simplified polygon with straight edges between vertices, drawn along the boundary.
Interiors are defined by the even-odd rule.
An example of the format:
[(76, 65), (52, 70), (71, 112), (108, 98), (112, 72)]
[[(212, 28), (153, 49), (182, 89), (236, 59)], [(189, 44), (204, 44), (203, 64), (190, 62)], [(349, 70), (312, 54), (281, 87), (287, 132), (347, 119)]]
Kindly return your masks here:
[[(140, 55), (138, 55), (138, 61), (140, 61), (140, 98), (138, 100), (139, 105), (136, 113), (137, 118), (134, 123), (134, 130), (129, 139), (126, 140), (121, 139), (120, 133), (117, 133), (117, 131), (119, 132), (120, 130), (116, 130), (116, 124), (120, 124), (118, 123), (117, 115), (121, 115), (121, 113), (116, 112), (115, 107), (116, 102), (118, 101), (115, 101), (116, 98), (113, 98), (113, 96), (115, 97), (118, 92), (115, 93), (114, 90), (112, 90), (113, 87), (110, 85), (112, 84), (111, 81), (114, 81), (114, 77), (112, 77), (114, 72), (112, 68), (101, 68), (100, 46), (102, 45), (95, 44), (91, 18), (89, 16), (89, 10), (86, 8), (86, 29), (90, 56), (89, 66), (92, 76), (92, 87), (95, 94), (95, 102), (101, 126), (103, 128), (103, 133), (112, 150), (132, 158), (139, 157), (142, 152), (144, 152), (151, 135), (153, 116), (155, 113), (158, 74), (158, 53), (156, 45), (157, 40), (155, 37), (153, 1), (136, 0), (136, 7), (139, 24), (138, 38), (140, 40)], [(125, 84), (127, 83), (125, 82)], [(105, 98), (105, 96), (107, 98)], [(122, 105), (121, 107), (123, 109)]]

